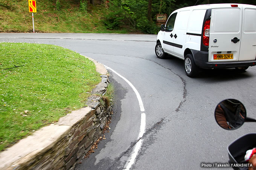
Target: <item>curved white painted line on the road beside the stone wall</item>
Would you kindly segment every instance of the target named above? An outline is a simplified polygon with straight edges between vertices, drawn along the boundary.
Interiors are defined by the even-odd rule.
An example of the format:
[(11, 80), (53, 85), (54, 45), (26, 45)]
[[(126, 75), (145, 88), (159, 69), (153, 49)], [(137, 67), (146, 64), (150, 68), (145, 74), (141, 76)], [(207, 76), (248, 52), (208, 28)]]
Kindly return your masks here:
[[(105, 66), (105, 65), (104, 65)], [(118, 75), (119, 77), (121, 77), (123, 80), (126, 81), (126, 83), (128, 83), (131, 88), (133, 89), (133, 91), (135, 92), (137, 99), (139, 101), (139, 105), (140, 105), (140, 111), (145, 111), (145, 108), (143, 106), (143, 102), (142, 99), (140, 97), (140, 94), (138, 92), (138, 90), (133, 86), (133, 84), (131, 84), (131, 82), (129, 80), (127, 80), (125, 77), (123, 77), (122, 75), (120, 75), (119, 73), (117, 73), (116, 71), (114, 71), (113, 69), (109, 68), (108, 66), (105, 66), (106, 69), (111, 70), (112, 72), (114, 72), (116, 75)], [(140, 147), (142, 145), (142, 136), (145, 132), (145, 126), (146, 126), (146, 114), (145, 113), (141, 113), (140, 115), (140, 132), (139, 132), (139, 136), (138, 136), (138, 142), (135, 145), (133, 154), (131, 155), (128, 164), (126, 164), (125, 170), (129, 170), (131, 168), (131, 166), (134, 164), (134, 161), (139, 153)]]

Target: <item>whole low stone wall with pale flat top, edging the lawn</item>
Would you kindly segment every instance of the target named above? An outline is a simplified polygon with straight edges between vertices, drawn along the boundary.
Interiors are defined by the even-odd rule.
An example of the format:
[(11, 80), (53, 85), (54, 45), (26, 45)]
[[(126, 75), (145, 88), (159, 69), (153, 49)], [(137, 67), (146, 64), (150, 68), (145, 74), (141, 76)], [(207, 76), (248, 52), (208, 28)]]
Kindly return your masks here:
[(87, 100), (87, 107), (72, 111), (0, 153), (0, 169), (69, 170), (75, 167), (102, 134), (111, 112), (111, 106), (101, 97), (109, 83), (108, 75), (101, 77), (101, 83)]

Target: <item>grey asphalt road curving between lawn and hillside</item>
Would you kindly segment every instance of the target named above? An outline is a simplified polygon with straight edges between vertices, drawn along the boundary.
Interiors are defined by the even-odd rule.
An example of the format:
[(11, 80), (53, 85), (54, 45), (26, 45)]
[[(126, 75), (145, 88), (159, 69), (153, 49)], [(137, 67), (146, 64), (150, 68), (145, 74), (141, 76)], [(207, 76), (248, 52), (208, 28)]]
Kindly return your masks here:
[[(183, 60), (154, 54), (156, 35), (0, 33), (0, 42), (54, 44), (91, 57), (110, 67), (138, 90), (146, 115), (142, 145), (131, 169), (199, 169), (201, 163), (228, 161), (226, 147), (256, 123), (235, 131), (215, 122), (216, 105), (227, 98), (243, 102), (247, 116), (256, 118), (256, 67), (203, 70), (186, 76)], [(110, 132), (96, 152), (76, 167), (123, 169), (140, 133), (141, 111), (133, 89), (109, 71), (116, 89)], [(227, 168), (225, 168), (227, 169)]]

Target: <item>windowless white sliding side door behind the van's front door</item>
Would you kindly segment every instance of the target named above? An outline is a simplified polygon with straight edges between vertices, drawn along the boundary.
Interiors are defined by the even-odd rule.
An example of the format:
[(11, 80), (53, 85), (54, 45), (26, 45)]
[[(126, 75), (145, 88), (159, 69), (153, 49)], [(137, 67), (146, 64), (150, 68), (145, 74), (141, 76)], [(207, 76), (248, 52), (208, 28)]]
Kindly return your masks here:
[(177, 14), (174, 25), (173, 50), (174, 55), (184, 59), (184, 48), (186, 43), (187, 23), (190, 10), (180, 11)]

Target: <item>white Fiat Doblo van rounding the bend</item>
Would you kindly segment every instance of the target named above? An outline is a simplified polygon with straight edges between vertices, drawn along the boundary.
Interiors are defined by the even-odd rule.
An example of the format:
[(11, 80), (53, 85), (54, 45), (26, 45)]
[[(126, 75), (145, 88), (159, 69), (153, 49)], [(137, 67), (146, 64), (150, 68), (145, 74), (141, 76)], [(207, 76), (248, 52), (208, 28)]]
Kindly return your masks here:
[(184, 60), (189, 77), (198, 68), (246, 70), (256, 64), (256, 6), (210, 4), (177, 9), (161, 26), (155, 54)]

